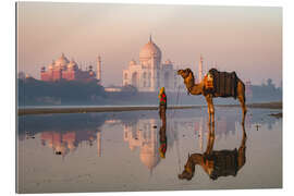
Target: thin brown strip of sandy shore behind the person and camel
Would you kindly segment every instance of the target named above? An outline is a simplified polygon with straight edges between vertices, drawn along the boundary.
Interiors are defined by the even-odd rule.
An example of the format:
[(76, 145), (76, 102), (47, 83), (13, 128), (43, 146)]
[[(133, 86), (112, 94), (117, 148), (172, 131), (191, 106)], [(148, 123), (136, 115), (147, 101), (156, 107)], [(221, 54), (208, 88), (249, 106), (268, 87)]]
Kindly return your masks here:
[[(170, 106), (168, 109), (194, 109), (206, 106)], [(240, 105), (217, 105), (216, 107), (240, 107)], [(282, 109), (282, 102), (248, 103), (247, 108)], [(158, 110), (157, 106), (119, 106), (119, 107), (64, 107), (64, 108), (22, 108), (19, 109), (19, 115), (26, 114), (46, 114), (46, 113), (87, 113), (87, 112), (119, 112), (119, 111), (138, 111), (138, 110)]]

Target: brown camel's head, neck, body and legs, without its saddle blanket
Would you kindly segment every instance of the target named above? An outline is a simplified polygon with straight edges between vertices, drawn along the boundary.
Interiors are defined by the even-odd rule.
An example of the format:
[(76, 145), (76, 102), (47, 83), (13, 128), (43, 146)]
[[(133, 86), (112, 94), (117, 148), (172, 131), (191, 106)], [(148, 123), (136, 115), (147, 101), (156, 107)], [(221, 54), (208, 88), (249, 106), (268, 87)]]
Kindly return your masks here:
[[(216, 69), (213, 69), (213, 70), (217, 71)], [(215, 122), (215, 106), (213, 106), (212, 98), (223, 97), (223, 96), (221, 96), (219, 94), (206, 93), (204, 79), (199, 84), (195, 84), (195, 77), (194, 77), (194, 74), (191, 71), (191, 69), (179, 70), (177, 75), (181, 75), (183, 77), (184, 84), (187, 88), (188, 94), (204, 95), (205, 96), (206, 101), (207, 101), (207, 111), (209, 114), (209, 123), (213, 123)], [(246, 109), (246, 105), (245, 105), (245, 101), (246, 101), (246, 99), (245, 99), (245, 85), (238, 77), (236, 77), (236, 97), (238, 98), (242, 110), (243, 110), (242, 124), (244, 125), (245, 115), (247, 113), (247, 109)]]

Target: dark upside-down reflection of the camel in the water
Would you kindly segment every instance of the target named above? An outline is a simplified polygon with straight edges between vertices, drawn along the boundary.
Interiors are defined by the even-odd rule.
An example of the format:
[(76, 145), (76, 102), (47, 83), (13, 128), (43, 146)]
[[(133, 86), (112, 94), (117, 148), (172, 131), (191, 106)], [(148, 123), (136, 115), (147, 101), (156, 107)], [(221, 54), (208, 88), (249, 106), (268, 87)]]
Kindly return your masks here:
[(188, 155), (187, 162), (179, 179), (192, 180), (195, 173), (195, 166), (199, 164), (210, 179), (217, 180), (220, 176), (235, 176), (238, 170), (246, 162), (246, 131), (243, 127), (243, 137), (238, 149), (213, 150), (215, 144), (215, 123), (209, 124), (207, 148), (204, 154)]

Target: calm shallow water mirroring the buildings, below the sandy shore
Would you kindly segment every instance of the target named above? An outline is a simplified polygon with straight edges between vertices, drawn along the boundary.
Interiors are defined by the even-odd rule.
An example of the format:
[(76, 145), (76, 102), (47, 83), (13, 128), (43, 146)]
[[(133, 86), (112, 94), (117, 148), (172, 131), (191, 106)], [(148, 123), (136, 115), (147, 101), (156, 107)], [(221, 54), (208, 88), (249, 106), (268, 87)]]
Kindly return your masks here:
[[(231, 155), (235, 148), (243, 149), (245, 155), (234, 152), (233, 156), (242, 164), (223, 163), (218, 168), (219, 163), (210, 159), (209, 164), (215, 168), (205, 170), (196, 166), (191, 181), (180, 180), (177, 174), (184, 170), (188, 154), (204, 155), (207, 149), (206, 109), (167, 112), (166, 158), (159, 154), (162, 122), (157, 111), (20, 117), (17, 191), (282, 187), (282, 120), (268, 115), (281, 111), (249, 109), (245, 124), (247, 139), (243, 146), (241, 109), (221, 107), (216, 111), (212, 151)], [(217, 172), (217, 179), (211, 172)]]

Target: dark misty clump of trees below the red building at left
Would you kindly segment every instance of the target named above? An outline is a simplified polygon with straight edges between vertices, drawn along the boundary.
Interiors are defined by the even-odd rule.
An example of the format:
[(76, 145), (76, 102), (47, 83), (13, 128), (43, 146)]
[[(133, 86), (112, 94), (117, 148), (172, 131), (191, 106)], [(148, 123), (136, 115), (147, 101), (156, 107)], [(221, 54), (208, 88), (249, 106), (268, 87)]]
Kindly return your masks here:
[(19, 79), (20, 105), (60, 105), (103, 99), (106, 93), (96, 81), (58, 81), (44, 82), (33, 77)]

